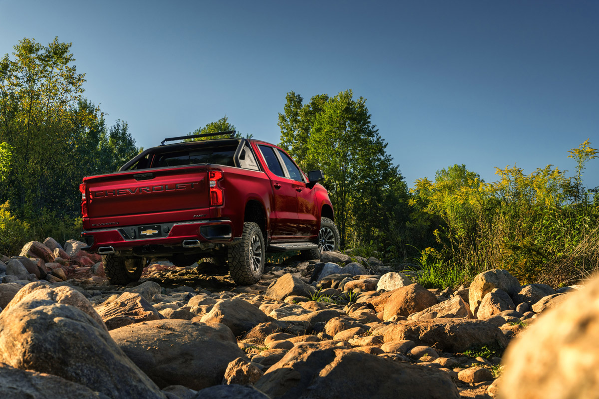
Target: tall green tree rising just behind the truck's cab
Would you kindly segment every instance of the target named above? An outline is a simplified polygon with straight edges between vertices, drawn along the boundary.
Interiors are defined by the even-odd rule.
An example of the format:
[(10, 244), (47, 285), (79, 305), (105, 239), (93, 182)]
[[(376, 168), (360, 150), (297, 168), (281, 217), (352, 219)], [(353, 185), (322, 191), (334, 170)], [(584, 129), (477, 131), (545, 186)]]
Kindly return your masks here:
[(350, 237), (386, 237), (392, 224), (403, 223), (402, 212), (389, 217), (401, 209), (398, 203), (406, 204), (406, 185), (370, 118), (366, 99), (353, 99), (351, 90), (332, 98), (317, 95), (305, 105), (289, 92), (279, 114), (281, 147), (302, 169), (325, 172), (343, 245)]

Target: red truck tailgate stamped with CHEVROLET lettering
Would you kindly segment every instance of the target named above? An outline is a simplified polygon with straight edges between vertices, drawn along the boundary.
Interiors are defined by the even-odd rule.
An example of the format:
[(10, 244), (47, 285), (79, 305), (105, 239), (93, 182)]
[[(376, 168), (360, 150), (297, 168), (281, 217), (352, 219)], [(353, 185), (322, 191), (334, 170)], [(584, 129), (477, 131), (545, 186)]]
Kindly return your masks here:
[(189, 220), (210, 207), (208, 169), (207, 165), (165, 167), (84, 178), (90, 225), (165, 212), (172, 212), (171, 221)]

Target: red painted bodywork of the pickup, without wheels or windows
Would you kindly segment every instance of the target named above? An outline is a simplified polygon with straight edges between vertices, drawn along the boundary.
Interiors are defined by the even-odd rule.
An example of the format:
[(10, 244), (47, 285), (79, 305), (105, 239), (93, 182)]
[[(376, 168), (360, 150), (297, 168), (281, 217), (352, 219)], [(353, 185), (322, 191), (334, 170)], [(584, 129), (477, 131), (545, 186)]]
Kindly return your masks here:
[[(185, 143), (185, 148), (192, 151), (201, 148), (202, 143), (205, 142)], [(83, 218), (85, 231), (81, 235), (93, 236), (93, 244), (91, 239), (88, 241), (89, 251), (101, 246), (114, 249), (144, 245), (177, 246), (190, 239), (231, 243), (243, 232), (249, 202), (258, 204), (264, 212), (267, 242), (315, 242), (322, 207), (328, 205), (332, 209), (325, 188), (320, 184), (306, 187), (308, 180), (305, 175), (305, 181), (275, 175), (268, 169), (257, 144), (280, 148), (253, 139), (246, 143), (252, 148), (261, 170), (203, 163), (126, 170), (83, 178), (88, 215)], [(168, 153), (169, 148), (167, 145), (150, 150)], [(150, 154), (149, 162), (157, 158)], [(216, 181), (216, 188), (223, 194), (220, 206), (210, 205), (210, 183), (214, 184), (208, 179), (210, 170), (222, 172), (222, 177)], [(177, 224), (183, 222), (186, 224)], [(117, 230), (173, 223), (166, 236), (156, 238), (131, 239), (123, 237)], [(199, 233), (199, 227), (207, 223), (230, 228), (231, 237), (207, 239)]]

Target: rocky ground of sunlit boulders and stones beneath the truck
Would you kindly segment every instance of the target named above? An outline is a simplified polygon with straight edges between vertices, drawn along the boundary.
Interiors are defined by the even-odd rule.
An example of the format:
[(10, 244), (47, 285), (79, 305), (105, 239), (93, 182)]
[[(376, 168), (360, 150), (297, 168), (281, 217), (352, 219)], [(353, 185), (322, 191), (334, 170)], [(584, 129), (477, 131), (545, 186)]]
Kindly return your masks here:
[[(531, 359), (558, 370), (572, 362), (544, 355), (556, 335), (562, 346), (582, 337), (574, 363), (596, 362), (597, 335), (585, 331), (599, 331), (599, 306), (577, 310), (599, 287), (566, 294), (583, 286), (521, 286), (494, 269), (469, 287), (426, 290), (415, 272), (340, 252), (267, 264), (250, 287), (210, 263), (152, 264), (118, 287), (83, 246), (49, 238), (0, 259), (0, 397), (584, 397), (518, 387), (546, 385)], [(583, 327), (543, 328), (568, 317)], [(538, 342), (545, 348), (522, 355)], [(549, 392), (564, 378), (580, 387), (562, 369)]]

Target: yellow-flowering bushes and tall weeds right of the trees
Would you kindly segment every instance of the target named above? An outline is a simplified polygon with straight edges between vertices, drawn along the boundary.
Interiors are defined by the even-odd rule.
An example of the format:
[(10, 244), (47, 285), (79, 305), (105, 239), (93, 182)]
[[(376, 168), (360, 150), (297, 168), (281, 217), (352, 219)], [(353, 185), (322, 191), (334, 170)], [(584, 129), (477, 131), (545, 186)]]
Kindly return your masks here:
[(568, 151), (576, 175), (552, 165), (525, 174), (497, 168), (485, 183), (464, 165), (420, 179), (411, 205), (437, 215), (434, 231), (444, 262), (468, 275), (492, 267), (510, 270), (521, 282), (559, 284), (599, 267), (599, 206), (582, 186), (585, 163), (598, 150), (586, 140)]

